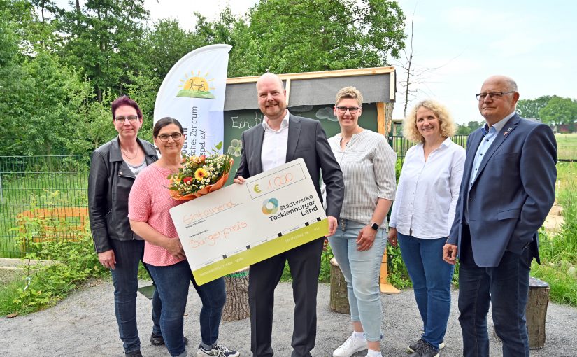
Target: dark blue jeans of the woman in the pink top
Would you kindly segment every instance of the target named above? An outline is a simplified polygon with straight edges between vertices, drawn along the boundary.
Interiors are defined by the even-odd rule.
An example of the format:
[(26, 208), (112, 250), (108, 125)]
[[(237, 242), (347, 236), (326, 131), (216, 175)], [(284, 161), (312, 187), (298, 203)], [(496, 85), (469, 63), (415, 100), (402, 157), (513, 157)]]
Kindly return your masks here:
[(160, 329), (164, 343), (171, 356), (180, 356), (186, 351), (184, 343), (184, 314), (188, 287), (192, 285), (197, 290), (202, 307), (200, 310), (200, 335), (202, 343), (213, 346), (218, 339), (218, 328), (222, 316), (222, 308), (227, 300), (225, 279), (219, 278), (203, 285), (194, 281), (190, 266), (186, 260), (166, 267), (148, 265), (155, 279), (160, 299), (162, 314)]

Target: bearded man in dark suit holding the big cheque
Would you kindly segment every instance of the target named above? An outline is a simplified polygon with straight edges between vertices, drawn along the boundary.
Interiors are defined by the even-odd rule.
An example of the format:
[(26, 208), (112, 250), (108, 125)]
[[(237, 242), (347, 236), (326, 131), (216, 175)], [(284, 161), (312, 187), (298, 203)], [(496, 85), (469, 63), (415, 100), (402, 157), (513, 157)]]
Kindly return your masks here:
[[(257, 81), (257, 94), (264, 120), (262, 125), (243, 132), (243, 152), (234, 182), (243, 183), (245, 178), (303, 158), (321, 200), (319, 179), (322, 173), (327, 188), (327, 237), (333, 235), (343, 203), (344, 183), (325, 131), (318, 120), (293, 116), (287, 111), (286, 92), (278, 76), (262, 75)], [(290, 266), (295, 304), (292, 357), (311, 356), (316, 338), (317, 285), (324, 240), (325, 237), (320, 237), (250, 266), (248, 301), (253, 356), (273, 356), (274, 289), (285, 262)]]

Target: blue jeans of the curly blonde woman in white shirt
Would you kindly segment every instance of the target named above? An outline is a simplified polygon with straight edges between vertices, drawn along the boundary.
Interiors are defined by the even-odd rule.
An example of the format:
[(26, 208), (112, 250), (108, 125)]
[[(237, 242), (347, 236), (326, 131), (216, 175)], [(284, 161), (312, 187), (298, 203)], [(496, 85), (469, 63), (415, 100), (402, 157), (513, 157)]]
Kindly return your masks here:
[(413, 281), (415, 300), (425, 333), (422, 339), (436, 349), (445, 338), (451, 309), (453, 265), (443, 261), (447, 237), (415, 238), (397, 233), (401, 255)]

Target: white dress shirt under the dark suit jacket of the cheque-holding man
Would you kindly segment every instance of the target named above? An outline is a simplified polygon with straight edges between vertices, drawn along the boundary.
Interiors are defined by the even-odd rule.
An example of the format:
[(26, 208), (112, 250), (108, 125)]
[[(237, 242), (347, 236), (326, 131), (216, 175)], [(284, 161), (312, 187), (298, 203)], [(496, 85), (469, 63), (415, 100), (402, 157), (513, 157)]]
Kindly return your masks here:
[(264, 117), (264, 138), (260, 151), (262, 171), (274, 169), (287, 162), (288, 125), (290, 113), (287, 111), (285, 118), (280, 122), (280, 129), (273, 130), (269, 126), (269, 118)]

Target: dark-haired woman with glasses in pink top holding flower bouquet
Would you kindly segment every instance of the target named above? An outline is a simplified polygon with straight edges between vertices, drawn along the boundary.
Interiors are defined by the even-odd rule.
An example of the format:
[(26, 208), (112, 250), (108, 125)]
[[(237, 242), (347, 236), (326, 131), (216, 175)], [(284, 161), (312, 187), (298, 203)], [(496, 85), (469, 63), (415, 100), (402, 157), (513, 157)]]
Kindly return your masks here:
[(167, 189), (167, 176), (178, 172), (183, 161), (183, 127), (178, 120), (166, 117), (157, 121), (152, 134), (161, 158), (136, 178), (129, 195), (128, 217), (132, 230), (145, 240), (144, 262), (162, 300), (160, 329), (166, 348), (171, 356), (187, 356), (183, 316), (192, 281), (202, 302), (197, 356), (237, 357), (237, 351), (217, 344), (226, 300), (225, 281), (220, 278), (201, 286), (194, 281), (169, 213), (184, 202), (174, 200)]

